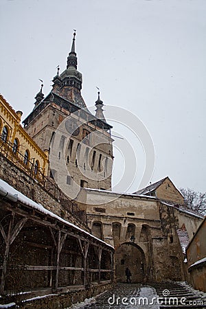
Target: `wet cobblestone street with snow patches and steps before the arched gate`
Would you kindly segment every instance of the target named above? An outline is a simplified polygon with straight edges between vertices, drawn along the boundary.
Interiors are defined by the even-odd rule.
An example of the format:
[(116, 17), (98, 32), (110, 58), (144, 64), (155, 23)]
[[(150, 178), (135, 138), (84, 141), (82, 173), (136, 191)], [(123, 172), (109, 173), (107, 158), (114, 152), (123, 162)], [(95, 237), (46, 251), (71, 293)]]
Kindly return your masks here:
[[(158, 299), (158, 301), (157, 301)], [(162, 284), (117, 284), (113, 290), (72, 309), (163, 309), (163, 308), (206, 308), (206, 294), (193, 290), (183, 282)]]

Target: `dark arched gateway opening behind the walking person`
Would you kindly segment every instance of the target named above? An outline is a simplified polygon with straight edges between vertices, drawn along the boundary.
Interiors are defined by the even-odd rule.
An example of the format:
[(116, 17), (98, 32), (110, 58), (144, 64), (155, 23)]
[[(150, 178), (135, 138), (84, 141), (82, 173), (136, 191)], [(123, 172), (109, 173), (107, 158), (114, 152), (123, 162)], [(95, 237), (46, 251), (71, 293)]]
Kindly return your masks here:
[(115, 273), (117, 282), (126, 282), (125, 269), (128, 267), (132, 273), (132, 282), (144, 282), (146, 260), (144, 251), (133, 244), (124, 242), (115, 251)]

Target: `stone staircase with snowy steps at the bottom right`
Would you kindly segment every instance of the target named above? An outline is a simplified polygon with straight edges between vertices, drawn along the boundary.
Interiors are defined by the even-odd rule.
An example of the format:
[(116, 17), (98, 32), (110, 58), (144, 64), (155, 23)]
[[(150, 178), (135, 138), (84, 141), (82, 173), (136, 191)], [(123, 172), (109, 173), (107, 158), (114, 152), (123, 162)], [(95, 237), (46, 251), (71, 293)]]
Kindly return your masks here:
[(206, 293), (194, 290), (185, 282), (162, 282), (150, 284), (157, 291), (160, 309), (197, 309), (206, 308)]

